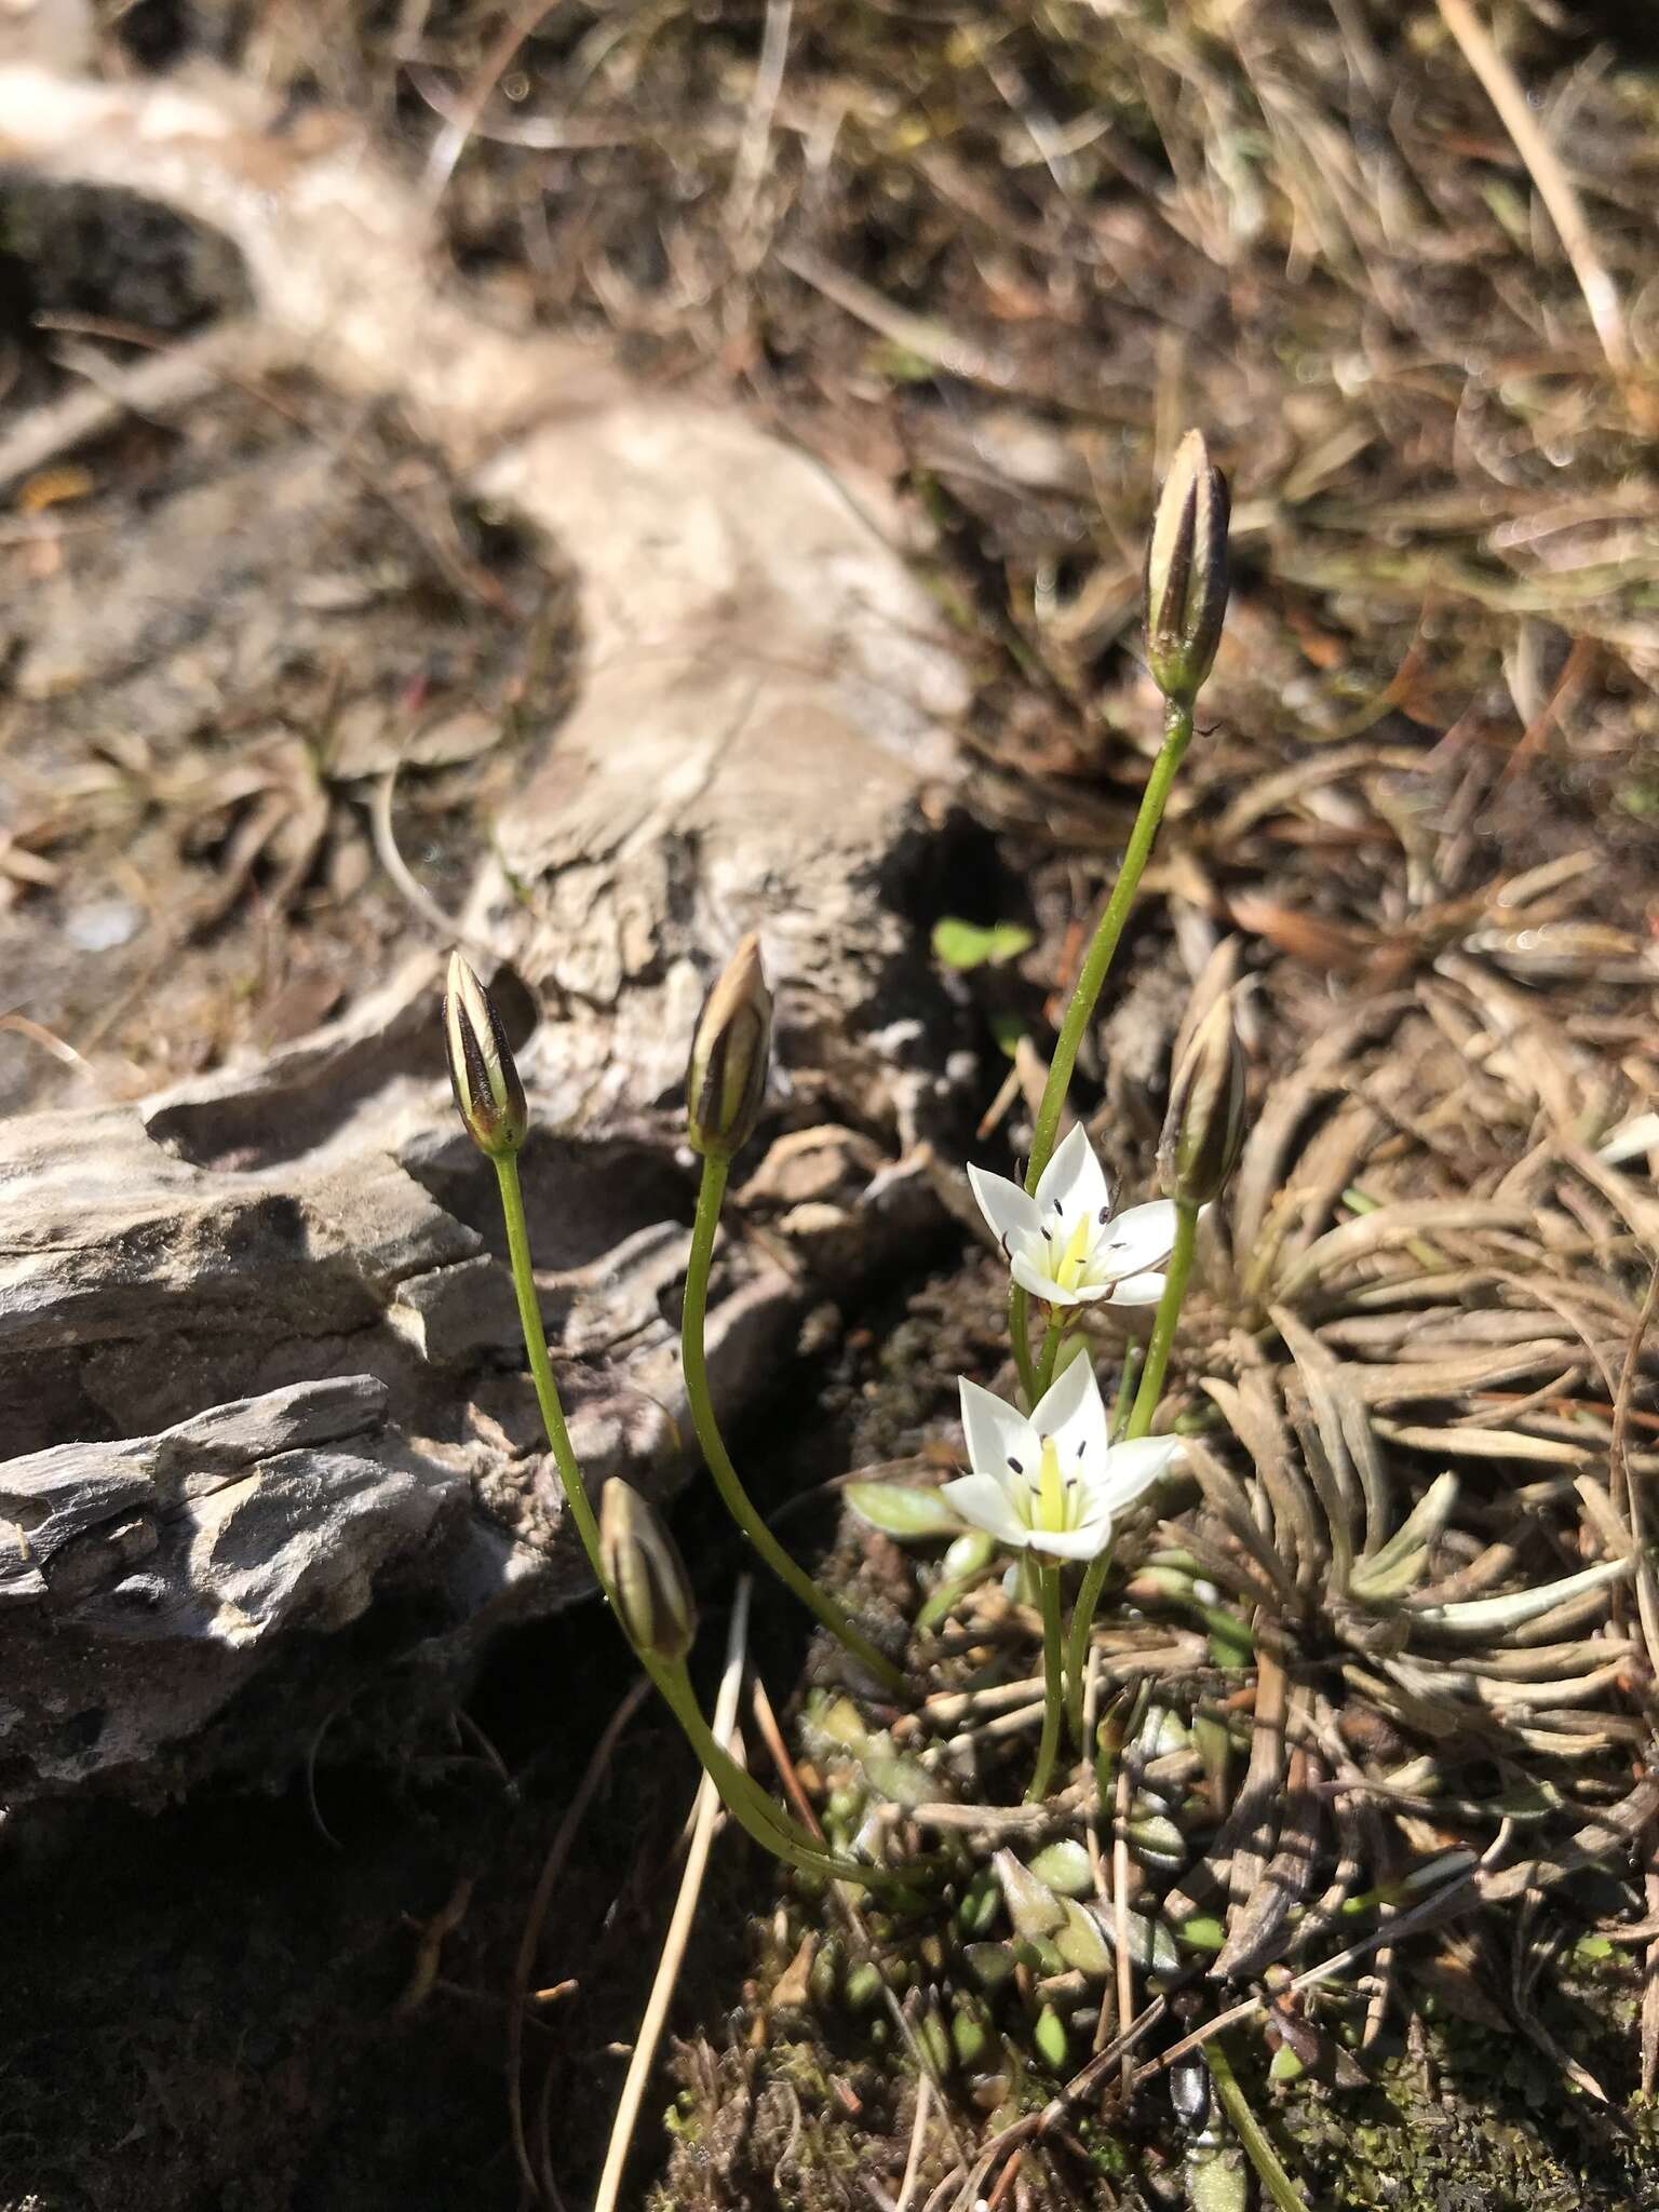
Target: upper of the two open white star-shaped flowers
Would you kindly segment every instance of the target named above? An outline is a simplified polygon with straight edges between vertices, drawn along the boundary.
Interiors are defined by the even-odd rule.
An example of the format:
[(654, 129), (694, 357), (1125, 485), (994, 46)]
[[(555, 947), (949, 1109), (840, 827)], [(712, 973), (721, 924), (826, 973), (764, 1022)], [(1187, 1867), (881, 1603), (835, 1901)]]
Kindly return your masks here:
[(1113, 1194), (1082, 1121), (1042, 1170), (1035, 1194), (969, 1168), (973, 1197), (1009, 1254), (1013, 1281), (1046, 1305), (1157, 1305), (1175, 1248), (1175, 1206), (1152, 1199), (1113, 1219)]

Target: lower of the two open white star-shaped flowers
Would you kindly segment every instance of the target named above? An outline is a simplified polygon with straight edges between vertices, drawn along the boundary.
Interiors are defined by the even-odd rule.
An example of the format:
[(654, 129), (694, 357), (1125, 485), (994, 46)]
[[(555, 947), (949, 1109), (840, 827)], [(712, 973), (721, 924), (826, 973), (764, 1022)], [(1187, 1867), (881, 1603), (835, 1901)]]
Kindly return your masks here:
[(1026, 1420), (978, 1383), (962, 1383), (971, 1475), (942, 1495), (964, 1522), (1018, 1551), (1093, 1559), (1113, 1537), (1113, 1513), (1168, 1473), (1175, 1436), (1110, 1442), (1095, 1369), (1075, 1358)]

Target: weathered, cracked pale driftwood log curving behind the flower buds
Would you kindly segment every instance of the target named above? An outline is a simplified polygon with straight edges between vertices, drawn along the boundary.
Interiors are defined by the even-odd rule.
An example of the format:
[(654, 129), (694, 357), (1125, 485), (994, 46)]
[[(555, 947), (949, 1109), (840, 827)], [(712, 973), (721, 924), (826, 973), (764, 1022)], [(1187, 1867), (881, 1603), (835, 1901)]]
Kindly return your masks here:
[[(686, 1467), (677, 1095), (741, 931), (761, 929), (781, 993), (781, 1082), (710, 1323), (732, 1413), (805, 1305), (933, 1203), (918, 1157), (962, 1064), (909, 902), (962, 675), (896, 513), (734, 411), (493, 330), (434, 272), (418, 195), (338, 117), (276, 133), (241, 84), (13, 64), (0, 161), (210, 226), (252, 299), (15, 422), (2, 478), (126, 405), (166, 416), (226, 369), (303, 363), (396, 398), (458, 480), (575, 568), (575, 695), (458, 933), (522, 1042), (526, 1194), (577, 1447), (591, 1480), (626, 1469), (661, 1491)], [(168, 575), (146, 588), (164, 622)], [(493, 1188), (447, 1097), (427, 938), (270, 1057), (0, 1126), (4, 1803), (279, 1776), (352, 1668), (418, 1639), (467, 1650), (586, 1586)], [(376, 1606), (374, 1661), (319, 1670), (321, 1639)], [(257, 1679), (303, 1694), (261, 1694), (250, 1732)]]

